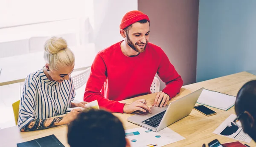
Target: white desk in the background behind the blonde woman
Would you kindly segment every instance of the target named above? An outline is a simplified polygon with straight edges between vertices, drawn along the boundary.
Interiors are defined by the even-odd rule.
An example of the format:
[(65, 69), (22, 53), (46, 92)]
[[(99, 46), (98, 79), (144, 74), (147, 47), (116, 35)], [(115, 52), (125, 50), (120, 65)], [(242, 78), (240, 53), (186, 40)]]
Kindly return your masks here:
[[(70, 47), (75, 54), (76, 69), (92, 65), (96, 56), (94, 45)], [(23, 82), (27, 75), (38, 71), (45, 65), (44, 52), (23, 54), (14, 57), (0, 58), (0, 86)]]

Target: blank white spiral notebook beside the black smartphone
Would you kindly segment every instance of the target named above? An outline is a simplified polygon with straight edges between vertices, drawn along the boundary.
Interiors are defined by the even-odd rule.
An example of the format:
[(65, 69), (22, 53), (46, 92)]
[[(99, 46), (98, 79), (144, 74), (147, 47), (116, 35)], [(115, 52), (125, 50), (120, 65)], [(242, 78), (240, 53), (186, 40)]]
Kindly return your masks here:
[(235, 105), (236, 96), (231, 96), (225, 93), (204, 89), (198, 98), (197, 103), (215, 107), (221, 110), (228, 110)]

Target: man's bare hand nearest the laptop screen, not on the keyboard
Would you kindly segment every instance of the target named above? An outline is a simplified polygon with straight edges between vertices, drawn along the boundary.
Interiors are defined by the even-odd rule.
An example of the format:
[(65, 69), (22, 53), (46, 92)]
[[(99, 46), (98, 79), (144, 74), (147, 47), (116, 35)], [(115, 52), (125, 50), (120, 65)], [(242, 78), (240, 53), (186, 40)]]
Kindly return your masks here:
[(156, 98), (154, 99), (154, 103), (152, 104), (152, 106), (165, 107), (169, 100), (170, 100), (170, 96), (168, 94), (160, 91), (160, 92), (157, 93)]

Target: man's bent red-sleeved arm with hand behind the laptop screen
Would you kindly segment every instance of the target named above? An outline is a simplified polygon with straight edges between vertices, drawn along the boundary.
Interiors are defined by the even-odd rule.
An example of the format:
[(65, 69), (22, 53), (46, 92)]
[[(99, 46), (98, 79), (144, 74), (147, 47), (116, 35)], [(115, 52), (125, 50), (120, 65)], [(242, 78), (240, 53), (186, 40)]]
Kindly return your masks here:
[(162, 56), (160, 58), (161, 61), (157, 74), (160, 79), (166, 83), (166, 87), (163, 89), (163, 91), (158, 92), (154, 99), (154, 103), (152, 105), (157, 107), (166, 106), (167, 102), (180, 92), (180, 88), (183, 85), (181, 76), (177, 73), (163, 50), (161, 51)]

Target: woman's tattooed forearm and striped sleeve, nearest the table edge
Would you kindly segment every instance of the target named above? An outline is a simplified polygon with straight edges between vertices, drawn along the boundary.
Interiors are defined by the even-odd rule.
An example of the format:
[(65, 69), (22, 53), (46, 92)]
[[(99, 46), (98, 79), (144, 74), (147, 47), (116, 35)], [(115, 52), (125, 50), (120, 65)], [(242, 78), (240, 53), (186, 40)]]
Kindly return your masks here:
[(18, 127), (20, 131), (41, 130), (50, 127), (67, 124), (76, 118), (81, 109), (74, 109), (67, 116), (48, 119), (35, 119), (35, 101), (37, 96), (37, 84), (33, 75), (27, 76), (24, 82), (23, 95), (20, 99)]

